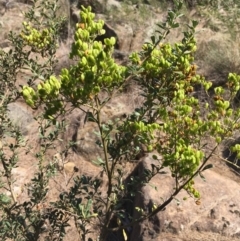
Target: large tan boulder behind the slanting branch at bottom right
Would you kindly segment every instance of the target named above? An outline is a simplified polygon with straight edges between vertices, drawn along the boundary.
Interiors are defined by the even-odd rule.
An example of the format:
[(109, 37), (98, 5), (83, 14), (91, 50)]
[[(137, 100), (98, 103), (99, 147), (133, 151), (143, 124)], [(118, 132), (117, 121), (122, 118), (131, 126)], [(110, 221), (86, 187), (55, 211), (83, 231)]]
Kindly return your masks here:
[[(139, 171), (150, 168), (155, 161), (146, 157)], [(197, 190), (201, 193), (201, 203), (196, 205), (192, 198), (183, 201), (188, 196), (182, 190), (164, 211), (133, 228), (131, 241), (149, 240), (154, 234), (154, 240), (163, 232), (181, 234), (185, 230), (196, 230), (240, 237), (240, 204), (238, 201), (240, 185), (228, 179), (214, 170), (204, 172), (206, 182), (200, 177), (195, 179)], [(155, 176), (151, 180), (151, 186), (147, 185), (141, 189), (135, 198), (135, 206), (147, 209), (153, 203), (161, 204), (173, 192), (174, 180), (168, 174)], [(152, 188), (156, 186), (157, 190)], [(135, 213), (137, 217), (137, 213)], [(151, 230), (151, 233), (149, 233)], [(159, 236), (160, 237), (160, 236)]]

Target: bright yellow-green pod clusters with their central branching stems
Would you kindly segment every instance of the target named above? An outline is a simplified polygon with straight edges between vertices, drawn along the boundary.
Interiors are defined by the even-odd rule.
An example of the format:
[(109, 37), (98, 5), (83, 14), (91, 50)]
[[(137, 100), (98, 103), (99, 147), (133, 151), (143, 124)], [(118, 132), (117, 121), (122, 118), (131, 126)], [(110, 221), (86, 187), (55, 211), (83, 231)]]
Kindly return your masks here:
[[(82, 8), (80, 15), (81, 22), (76, 25), (70, 52), (70, 58), (76, 60), (76, 64), (62, 69), (59, 79), (50, 76), (37, 87), (24, 86), (22, 95), (31, 107), (44, 105), (44, 118), (53, 120), (53, 124), (59, 115), (65, 113), (69, 103), (72, 109), (88, 108), (86, 119), (97, 124), (100, 138), (97, 144), (104, 153), (104, 160), (100, 159), (99, 162), (108, 179), (107, 197), (104, 200), (102, 197), (96, 198), (95, 193), (91, 192), (92, 199), (87, 196), (85, 206), (71, 202), (70, 208), (64, 208), (67, 211), (75, 210), (85, 224), (92, 222), (96, 216), (102, 218), (100, 239), (105, 240), (113, 213), (124, 218), (129, 215), (121, 209), (123, 197), (132, 196), (132, 189), (135, 188), (136, 192), (153, 176), (160, 175), (163, 168), (169, 167), (171, 171), (174, 191), (165, 202), (154, 204), (150, 213), (136, 208), (141, 216), (137, 221), (163, 210), (182, 189), (196, 200), (200, 198), (194, 187), (194, 177), (209, 167), (206, 163), (214, 150), (240, 128), (240, 111), (231, 104), (239, 91), (240, 76), (229, 74), (226, 88), (215, 88), (211, 102), (202, 104), (194, 95), (195, 87), (202, 86), (208, 93), (212, 84), (197, 74), (194, 64), (196, 21), (188, 26), (181, 42), (163, 44), (170, 30), (179, 26), (176, 22), (179, 17), (177, 10), (169, 11), (166, 22), (158, 25), (159, 36), (152, 36), (151, 42), (145, 43), (141, 51), (130, 55), (129, 65), (122, 66), (112, 57), (114, 38), (106, 38), (103, 43), (95, 40), (104, 33), (103, 21), (94, 20), (91, 8)], [(45, 48), (50, 41), (51, 30), (46, 32), (30, 25), (24, 26), (25, 32), (29, 31), (21, 35), (24, 41), (30, 46)], [(103, 123), (103, 107), (132, 79), (141, 91), (143, 103), (123, 121)], [(209, 152), (205, 147), (210, 138), (215, 146)], [(122, 161), (132, 161), (143, 150), (157, 153), (161, 158), (155, 154), (152, 157), (158, 164), (152, 164), (152, 169), (146, 170), (142, 180), (131, 177), (130, 183), (124, 184), (123, 170), (117, 166), (121, 166)], [(238, 145), (232, 150), (240, 152)], [(78, 180), (86, 183), (88, 179)], [(94, 187), (94, 182), (91, 185)], [(102, 206), (99, 208), (99, 203), (104, 209)], [(63, 198), (57, 205), (64, 206)], [(95, 207), (94, 213), (89, 211), (92, 206)], [(123, 229), (126, 236), (121, 225), (119, 219), (120, 227), (116, 228)], [(80, 228), (84, 231), (85, 227)]]

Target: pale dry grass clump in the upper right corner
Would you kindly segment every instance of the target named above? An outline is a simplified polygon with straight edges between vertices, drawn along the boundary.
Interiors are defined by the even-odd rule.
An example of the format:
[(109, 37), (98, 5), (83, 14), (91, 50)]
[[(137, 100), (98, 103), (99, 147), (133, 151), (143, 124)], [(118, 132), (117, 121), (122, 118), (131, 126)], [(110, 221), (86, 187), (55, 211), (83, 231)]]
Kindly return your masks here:
[(230, 72), (240, 73), (238, 7), (226, 9), (225, 5), (218, 1), (218, 7), (198, 8), (197, 16), (200, 24), (196, 33), (196, 61), (201, 74), (217, 82), (225, 82)]

